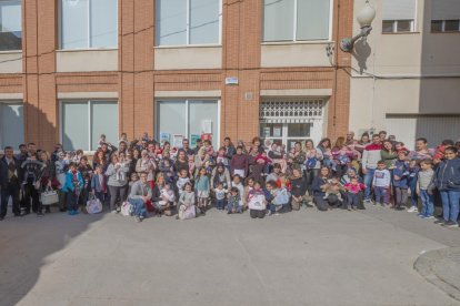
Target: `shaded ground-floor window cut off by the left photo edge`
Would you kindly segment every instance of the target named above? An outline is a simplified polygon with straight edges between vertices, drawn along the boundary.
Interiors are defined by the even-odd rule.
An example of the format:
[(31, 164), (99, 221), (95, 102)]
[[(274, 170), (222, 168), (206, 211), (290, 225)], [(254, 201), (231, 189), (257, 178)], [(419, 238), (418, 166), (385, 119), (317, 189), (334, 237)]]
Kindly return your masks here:
[(0, 102), (0, 149), (24, 142), (23, 104)]

